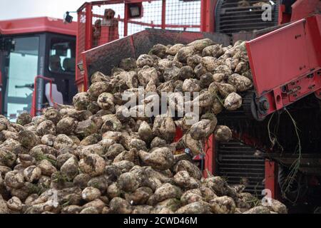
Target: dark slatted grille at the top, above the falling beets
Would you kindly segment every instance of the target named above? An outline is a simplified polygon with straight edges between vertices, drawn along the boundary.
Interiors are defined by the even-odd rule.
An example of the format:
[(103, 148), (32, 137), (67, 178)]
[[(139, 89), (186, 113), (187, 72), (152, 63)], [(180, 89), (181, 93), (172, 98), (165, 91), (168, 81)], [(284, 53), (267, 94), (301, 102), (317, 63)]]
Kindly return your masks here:
[[(262, 15), (265, 9), (255, 5), (263, 2), (272, 6), (271, 21), (263, 21)], [(248, 32), (277, 26), (278, 6), (278, 0), (220, 0), (215, 12), (215, 31), (231, 35), (242, 31)]]

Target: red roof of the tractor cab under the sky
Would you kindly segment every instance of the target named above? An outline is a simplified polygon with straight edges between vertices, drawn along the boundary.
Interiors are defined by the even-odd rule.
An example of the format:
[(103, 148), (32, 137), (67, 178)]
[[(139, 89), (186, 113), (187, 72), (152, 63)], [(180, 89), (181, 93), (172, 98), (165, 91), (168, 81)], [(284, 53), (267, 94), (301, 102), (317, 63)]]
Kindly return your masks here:
[(0, 21), (0, 34), (3, 35), (41, 32), (61, 33), (76, 36), (77, 24), (76, 22), (63, 24), (63, 20), (49, 17)]

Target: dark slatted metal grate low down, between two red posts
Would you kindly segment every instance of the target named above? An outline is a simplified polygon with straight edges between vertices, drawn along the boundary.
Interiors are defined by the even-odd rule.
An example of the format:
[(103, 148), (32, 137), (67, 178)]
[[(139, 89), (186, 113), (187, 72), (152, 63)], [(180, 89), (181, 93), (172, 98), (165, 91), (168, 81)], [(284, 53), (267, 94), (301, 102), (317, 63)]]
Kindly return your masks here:
[(265, 160), (254, 154), (255, 149), (236, 140), (218, 143), (216, 175), (225, 177), (230, 185), (246, 182), (245, 192), (260, 196), (265, 189)]

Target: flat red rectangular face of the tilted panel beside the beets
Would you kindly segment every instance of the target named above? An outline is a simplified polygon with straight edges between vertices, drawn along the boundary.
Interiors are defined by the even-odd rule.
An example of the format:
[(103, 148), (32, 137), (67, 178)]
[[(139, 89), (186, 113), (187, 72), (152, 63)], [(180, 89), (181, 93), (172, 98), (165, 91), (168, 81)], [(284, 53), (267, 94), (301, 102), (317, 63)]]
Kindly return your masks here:
[(248, 42), (250, 65), (258, 95), (310, 72), (305, 19)]

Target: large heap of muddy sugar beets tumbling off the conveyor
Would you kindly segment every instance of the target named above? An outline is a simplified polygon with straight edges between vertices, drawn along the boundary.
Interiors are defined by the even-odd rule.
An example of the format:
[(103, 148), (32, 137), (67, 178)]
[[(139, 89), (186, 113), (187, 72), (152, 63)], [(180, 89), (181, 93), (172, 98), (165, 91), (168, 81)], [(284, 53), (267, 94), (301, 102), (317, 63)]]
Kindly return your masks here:
[[(200, 92), (200, 120), (187, 125), (190, 113), (126, 117), (122, 94), (137, 95), (139, 86), (145, 93)], [(111, 76), (94, 73), (72, 106), (46, 108), (34, 118), (22, 113), (16, 123), (1, 116), (0, 213), (286, 213), (274, 199), (263, 206), (243, 185), (203, 178), (193, 156), (179, 152), (205, 154), (211, 134), (230, 140), (231, 130), (215, 115), (240, 108), (238, 93), (252, 87), (245, 42), (223, 47), (206, 38), (158, 44), (137, 60), (122, 60)], [(131, 111), (143, 112), (151, 100)], [(184, 136), (173, 142), (176, 128)]]

